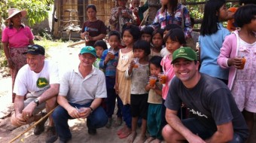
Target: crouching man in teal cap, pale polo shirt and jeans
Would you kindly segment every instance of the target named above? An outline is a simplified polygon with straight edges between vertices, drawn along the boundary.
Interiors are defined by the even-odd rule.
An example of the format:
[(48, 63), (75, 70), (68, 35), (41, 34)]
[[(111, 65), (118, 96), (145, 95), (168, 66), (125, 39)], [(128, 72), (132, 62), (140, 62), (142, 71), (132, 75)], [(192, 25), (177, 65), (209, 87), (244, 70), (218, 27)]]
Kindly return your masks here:
[(78, 57), (79, 65), (66, 71), (60, 79), (59, 106), (52, 115), (59, 142), (72, 138), (69, 119), (87, 118), (88, 133), (91, 135), (108, 122), (108, 116), (100, 106), (102, 99), (107, 97), (105, 75), (93, 67), (96, 50), (90, 46), (83, 47)]

